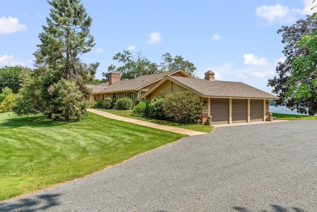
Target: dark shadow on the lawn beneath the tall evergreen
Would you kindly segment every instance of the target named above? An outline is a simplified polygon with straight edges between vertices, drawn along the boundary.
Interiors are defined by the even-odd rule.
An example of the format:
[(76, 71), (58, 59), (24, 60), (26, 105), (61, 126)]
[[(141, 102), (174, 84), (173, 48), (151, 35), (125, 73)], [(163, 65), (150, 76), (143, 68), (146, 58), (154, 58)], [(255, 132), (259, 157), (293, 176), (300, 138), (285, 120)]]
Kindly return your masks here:
[(3, 128), (19, 128), (19, 127), (53, 127), (64, 125), (65, 123), (56, 122), (47, 119), (43, 116), (36, 117), (17, 117), (6, 119), (4, 122), (0, 122), (0, 127)]

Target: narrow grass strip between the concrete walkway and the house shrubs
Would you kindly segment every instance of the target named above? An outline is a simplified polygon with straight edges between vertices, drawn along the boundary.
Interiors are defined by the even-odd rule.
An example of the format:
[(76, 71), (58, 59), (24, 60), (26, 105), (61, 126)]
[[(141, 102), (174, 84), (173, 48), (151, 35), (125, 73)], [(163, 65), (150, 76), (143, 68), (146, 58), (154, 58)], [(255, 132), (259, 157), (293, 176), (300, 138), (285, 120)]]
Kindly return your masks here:
[(186, 130), (194, 130), (194, 131), (203, 132), (203, 133), (210, 133), (213, 130), (213, 127), (207, 126), (207, 125), (179, 124), (179, 123), (175, 123), (175, 122), (171, 122), (171, 121), (167, 121), (167, 120), (158, 120), (158, 119), (153, 119), (153, 118), (148, 118), (148, 117), (135, 117), (135, 116), (131, 116), (132, 110), (112, 110), (112, 109), (107, 110), (107, 109), (97, 109), (97, 108), (94, 108), (94, 109), (106, 111), (108, 113), (112, 113), (112, 114), (122, 116), (122, 117), (151, 122), (151, 123), (159, 124), (159, 125), (167, 125), (167, 126), (183, 128)]

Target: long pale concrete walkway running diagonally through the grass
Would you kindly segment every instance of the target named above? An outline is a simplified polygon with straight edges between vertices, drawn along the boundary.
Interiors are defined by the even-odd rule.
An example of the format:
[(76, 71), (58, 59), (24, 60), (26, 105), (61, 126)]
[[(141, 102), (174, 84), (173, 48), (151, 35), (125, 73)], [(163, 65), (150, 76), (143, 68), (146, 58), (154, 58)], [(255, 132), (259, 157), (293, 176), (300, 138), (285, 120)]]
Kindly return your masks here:
[(197, 132), (197, 131), (193, 131), (193, 130), (186, 130), (183, 128), (171, 127), (171, 126), (166, 126), (166, 125), (159, 125), (159, 124), (154, 124), (151, 122), (145, 122), (145, 121), (140, 121), (140, 120), (136, 120), (136, 119), (125, 118), (125, 117), (114, 115), (112, 113), (107, 113), (105, 111), (100, 111), (100, 110), (95, 110), (95, 109), (87, 109), (87, 110), (91, 113), (95, 113), (95, 114), (98, 114), (100, 116), (103, 116), (103, 117), (106, 117), (109, 119), (115, 119), (115, 120), (119, 120), (119, 121), (123, 121), (123, 122), (129, 122), (129, 123), (142, 125), (142, 126), (146, 126), (146, 127), (151, 127), (151, 128), (155, 128), (155, 129), (159, 129), (159, 130), (169, 131), (169, 132), (173, 132), (173, 133), (179, 133), (179, 134), (184, 134), (184, 135), (188, 135), (188, 136), (207, 134), (207, 133)]

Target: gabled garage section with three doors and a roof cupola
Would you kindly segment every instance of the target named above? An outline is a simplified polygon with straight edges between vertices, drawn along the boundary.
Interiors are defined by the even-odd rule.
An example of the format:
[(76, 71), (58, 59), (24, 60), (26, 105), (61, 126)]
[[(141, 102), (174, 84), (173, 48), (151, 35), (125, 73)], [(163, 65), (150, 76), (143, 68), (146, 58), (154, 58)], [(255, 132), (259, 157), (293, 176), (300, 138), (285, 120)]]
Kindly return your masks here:
[(205, 73), (205, 79), (165, 76), (140, 98), (152, 99), (161, 92), (179, 90), (190, 90), (201, 98), (202, 124), (209, 124), (206, 122), (211, 116), (212, 125), (265, 121), (269, 99), (279, 99), (242, 82), (216, 81), (212, 71)]

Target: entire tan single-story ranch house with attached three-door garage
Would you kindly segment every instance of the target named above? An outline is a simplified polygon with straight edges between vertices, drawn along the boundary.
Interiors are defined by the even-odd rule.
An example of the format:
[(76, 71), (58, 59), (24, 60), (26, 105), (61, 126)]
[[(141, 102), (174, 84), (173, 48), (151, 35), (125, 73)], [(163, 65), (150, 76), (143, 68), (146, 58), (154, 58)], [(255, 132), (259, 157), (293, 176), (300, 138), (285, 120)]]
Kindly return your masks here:
[(205, 105), (202, 123), (211, 116), (213, 125), (265, 121), (269, 113), (268, 101), (279, 99), (242, 82), (216, 81), (212, 71), (205, 73), (205, 79), (174, 70), (129, 80), (120, 80), (120, 73), (111, 72), (109, 82), (87, 86), (92, 88), (90, 101), (107, 97), (116, 101), (127, 96), (135, 102), (138, 97), (151, 100), (159, 93), (190, 90)]

